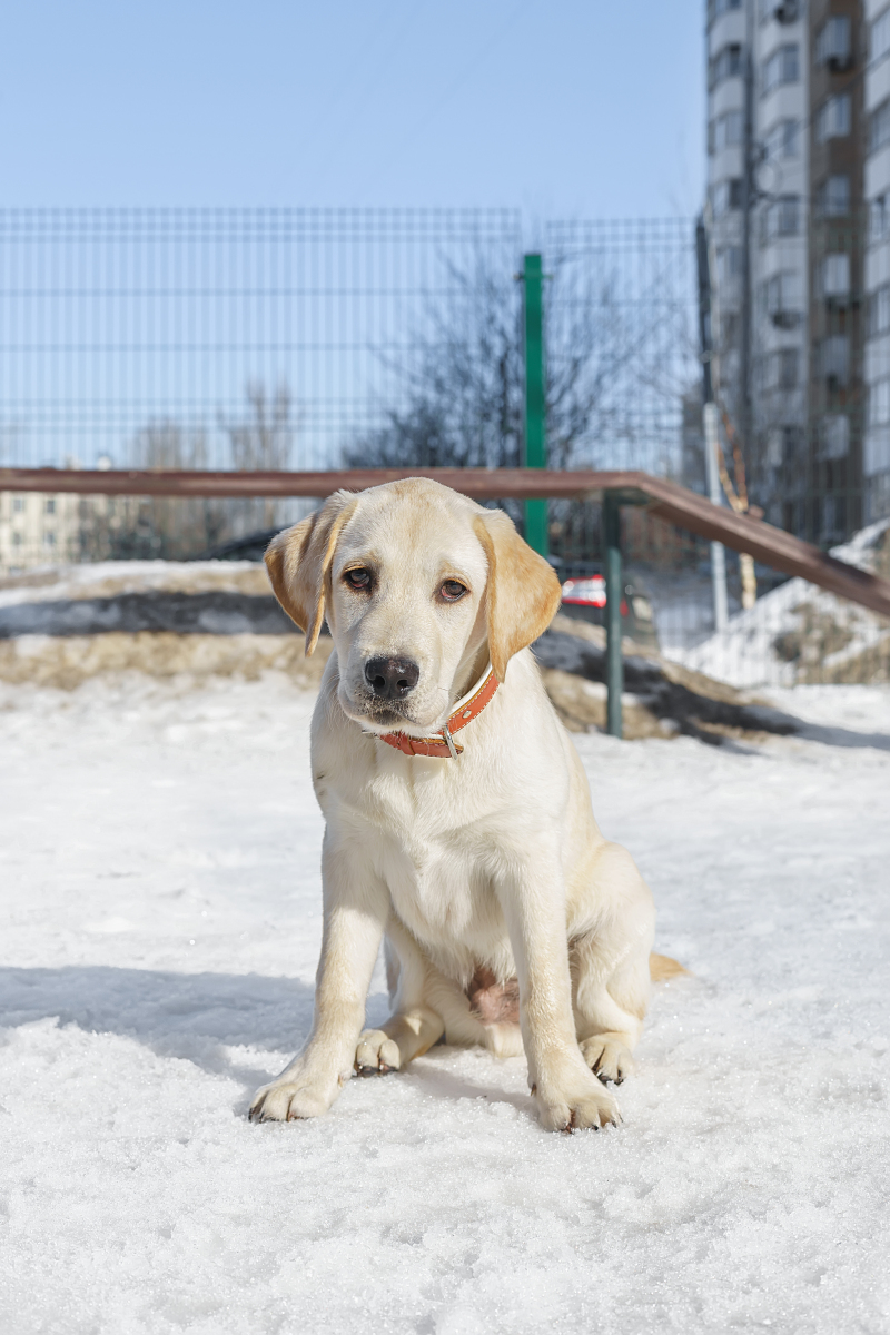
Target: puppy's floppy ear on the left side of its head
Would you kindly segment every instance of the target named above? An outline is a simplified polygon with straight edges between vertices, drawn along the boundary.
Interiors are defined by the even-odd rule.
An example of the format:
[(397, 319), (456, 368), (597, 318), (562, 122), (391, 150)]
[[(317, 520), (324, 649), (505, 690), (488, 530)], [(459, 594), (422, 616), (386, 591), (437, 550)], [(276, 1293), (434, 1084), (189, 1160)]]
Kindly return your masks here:
[(335, 491), (320, 510), (276, 534), (266, 551), (275, 597), (291, 621), (306, 631), (307, 658), (324, 622), (324, 587), (336, 541), (358, 499), (351, 491)]

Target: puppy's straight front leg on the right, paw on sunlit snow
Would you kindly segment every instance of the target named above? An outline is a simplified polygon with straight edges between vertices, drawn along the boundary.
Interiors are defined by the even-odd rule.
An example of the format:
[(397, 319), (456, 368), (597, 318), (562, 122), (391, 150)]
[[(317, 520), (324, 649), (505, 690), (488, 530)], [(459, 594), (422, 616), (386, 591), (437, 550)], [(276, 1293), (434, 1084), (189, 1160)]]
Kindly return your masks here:
[(620, 1121), (615, 1099), (578, 1047), (571, 1007), (566, 896), (559, 850), (540, 846), (500, 886), (519, 979), (528, 1085), (548, 1131)]

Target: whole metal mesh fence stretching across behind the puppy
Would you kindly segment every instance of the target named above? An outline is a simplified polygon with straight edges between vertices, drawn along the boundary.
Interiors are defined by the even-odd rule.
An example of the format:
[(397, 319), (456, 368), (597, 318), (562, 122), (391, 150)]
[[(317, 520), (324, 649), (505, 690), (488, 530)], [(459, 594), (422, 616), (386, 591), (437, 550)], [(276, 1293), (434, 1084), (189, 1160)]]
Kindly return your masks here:
[[(693, 223), (550, 222), (538, 243), (551, 466), (644, 469), (703, 490)], [(826, 515), (833, 533), (861, 519), (855, 367), (865, 332), (883, 330), (882, 307), (875, 298), (866, 311), (857, 296), (858, 254), (846, 296), (845, 274), (834, 272), (843, 266), (826, 266), (854, 243), (831, 234), (818, 254), (814, 243), (827, 286), (811, 330), (785, 288), (757, 294), (753, 497), (758, 486), (769, 505), (786, 497), (791, 509), (770, 518), (807, 535), (814, 515), (829, 537)], [(510, 210), (0, 211), (0, 462), (515, 466), (523, 248), (535, 247)], [(801, 403), (786, 421), (779, 352), (793, 342), (823, 351), (798, 359)], [(807, 376), (819, 407), (809, 426)], [(879, 427), (875, 405), (871, 417)], [(826, 507), (817, 491), (842, 491), (849, 503)], [(306, 506), (0, 493), (0, 574), (255, 557), (262, 541), (239, 541)], [(742, 611), (738, 559), (727, 554), (730, 626), (717, 634), (709, 545), (646, 510), (627, 509), (623, 527), (631, 645), (742, 686), (886, 678), (886, 627), (871, 614), (759, 567), (758, 603)], [(885, 559), (883, 541), (866, 559)], [(551, 502), (550, 545), (566, 579), (595, 578), (599, 506)]]

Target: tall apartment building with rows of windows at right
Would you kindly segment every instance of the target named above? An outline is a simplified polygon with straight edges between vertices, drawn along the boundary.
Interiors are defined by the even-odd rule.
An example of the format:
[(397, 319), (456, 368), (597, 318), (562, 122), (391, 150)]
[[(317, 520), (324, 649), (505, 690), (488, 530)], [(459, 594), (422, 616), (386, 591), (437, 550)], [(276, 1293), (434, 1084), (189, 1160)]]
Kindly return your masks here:
[(862, 0), (710, 0), (707, 12), (719, 395), (743, 441), (751, 499), (770, 522), (822, 545), (890, 513), (878, 467), (890, 470), (890, 286), (879, 299), (883, 454), (885, 419), (869, 388), (881, 379), (870, 370), (879, 322), (866, 284), (875, 294), (890, 284), (890, 148), (887, 259), (873, 262), (878, 243), (866, 240), (878, 192), (869, 112), (885, 99), (890, 144), (890, 81), (867, 91), (873, 27)]

